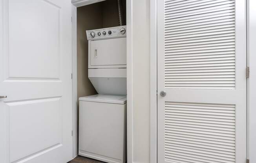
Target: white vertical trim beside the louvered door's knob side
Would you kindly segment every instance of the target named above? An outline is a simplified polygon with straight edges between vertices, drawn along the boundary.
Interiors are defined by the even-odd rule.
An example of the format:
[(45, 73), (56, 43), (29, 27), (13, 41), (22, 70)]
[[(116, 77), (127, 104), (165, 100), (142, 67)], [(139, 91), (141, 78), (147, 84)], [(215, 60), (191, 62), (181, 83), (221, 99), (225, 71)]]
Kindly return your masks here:
[(150, 0), (150, 163), (157, 163), (157, 0)]

